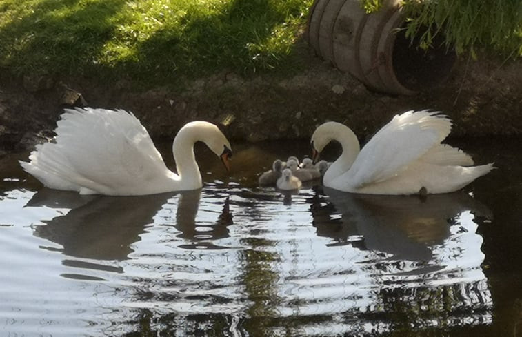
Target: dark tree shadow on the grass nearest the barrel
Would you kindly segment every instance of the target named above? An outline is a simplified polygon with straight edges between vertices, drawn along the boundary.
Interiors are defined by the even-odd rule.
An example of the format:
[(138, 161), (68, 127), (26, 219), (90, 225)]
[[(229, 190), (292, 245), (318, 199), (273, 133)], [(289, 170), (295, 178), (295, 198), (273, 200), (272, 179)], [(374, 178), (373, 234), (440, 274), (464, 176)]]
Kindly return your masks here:
[(233, 0), (221, 6), (210, 15), (187, 13), (190, 17), (181, 18), (181, 25), (166, 22), (121, 65), (137, 79), (162, 85), (222, 70), (248, 75), (286, 68), (292, 50), (265, 45), (274, 43), (270, 39), (285, 25), (287, 13), (269, 0)]

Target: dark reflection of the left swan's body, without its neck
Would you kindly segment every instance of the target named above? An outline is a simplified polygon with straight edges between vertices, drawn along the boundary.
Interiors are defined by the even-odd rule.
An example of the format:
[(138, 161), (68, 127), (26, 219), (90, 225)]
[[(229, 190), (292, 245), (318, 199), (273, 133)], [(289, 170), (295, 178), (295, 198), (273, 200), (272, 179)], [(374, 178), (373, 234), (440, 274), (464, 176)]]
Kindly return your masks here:
[[(132, 252), (132, 243), (139, 241), (145, 227), (153, 223), (154, 215), (168, 197), (159, 194), (128, 198), (90, 196), (85, 199), (77, 193), (44, 189), (37, 192), (28, 205), (34, 205), (35, 199), (39, 205), (47, 207), (77, 205), (67, 214), (43, 221), (46, 225), (34, 229), (35, 235), (61, 245), (63, 254), (97, 260), (123, 260)], [(61, 198), (66, 203), (61, 203)]]

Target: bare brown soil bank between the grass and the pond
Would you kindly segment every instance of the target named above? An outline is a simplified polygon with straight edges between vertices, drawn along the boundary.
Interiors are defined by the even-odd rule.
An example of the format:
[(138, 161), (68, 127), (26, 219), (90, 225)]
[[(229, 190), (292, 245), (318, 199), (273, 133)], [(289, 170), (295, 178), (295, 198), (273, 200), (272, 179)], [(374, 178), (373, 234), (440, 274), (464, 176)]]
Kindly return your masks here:
[[(459, 61), (439, 88), (414, 96), (370, 92), (349, 74), (303, 52), (300, 74), (243, 79), (223, 72), (188, 83), (186, 90), (132, 90), (127, 80), (31, 78), (0, 75), (0, 154), (25, 150), (53, 136), (73, 101), (122, 108), (141, 119), (153, 138), (172, 137), (188, 121), (221, 124), (232, 141), (309, 138), (324, 121), (339, 121), (364, 139), (407, 110), (441, 110), (454, 121), (453, 136), (522, 133), (522, 62)], [(81, 99), (78, 96), (81, 94)]]

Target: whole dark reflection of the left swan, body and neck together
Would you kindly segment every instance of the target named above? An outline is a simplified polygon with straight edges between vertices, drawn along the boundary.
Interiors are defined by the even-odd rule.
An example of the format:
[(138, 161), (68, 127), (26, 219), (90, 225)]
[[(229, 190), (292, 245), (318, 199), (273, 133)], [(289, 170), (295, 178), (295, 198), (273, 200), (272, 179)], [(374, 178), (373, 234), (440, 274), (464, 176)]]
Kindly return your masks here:
[[(173, 200), (177, 198), (176, 200)], [(147, 227), (157, 223), (159, 212), (170, 203), (176, 203), (176, 215), (163, 212), (162, 225), (179, 230), (174, 234), (185, 239), (179, 247), (216, 247), (212, 240), (228, 237), (227, 226), (232, 224), (228, 198), (212, 198), (221, 203), (214, 225), (210, 230), (197, 230), (196, 216), (200, 206), (201, 190), (149, 196), (81, 196), (73, 192), (43, 189), (33, 196), (29, 206), (70, 208), (70, 212), (57, 216), (46, 225), (37, 226), (34, 234), (58, 243), (68, 256), (97, 260), (125, 260), (133, 252), (132, 244), (140, 241)], [(169, 208), (169, 207), (167, 207)]]

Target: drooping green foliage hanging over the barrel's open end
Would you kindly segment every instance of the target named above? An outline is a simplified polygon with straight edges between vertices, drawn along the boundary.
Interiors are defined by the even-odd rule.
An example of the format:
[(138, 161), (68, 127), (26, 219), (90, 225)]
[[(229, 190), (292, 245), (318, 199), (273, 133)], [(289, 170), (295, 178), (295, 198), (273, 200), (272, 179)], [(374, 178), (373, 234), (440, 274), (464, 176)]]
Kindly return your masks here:
[[(361, 0), (368, 12), (386, 0)], [(406, 35), (428, 48), (442, 31), (457, 54), (485, 50), (501, 57), (522, 57), (521, 0), (403, 0)], [(428, 29), (427, 29), (428, 28)]]

